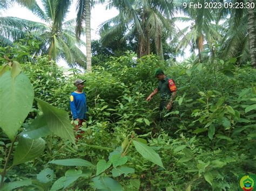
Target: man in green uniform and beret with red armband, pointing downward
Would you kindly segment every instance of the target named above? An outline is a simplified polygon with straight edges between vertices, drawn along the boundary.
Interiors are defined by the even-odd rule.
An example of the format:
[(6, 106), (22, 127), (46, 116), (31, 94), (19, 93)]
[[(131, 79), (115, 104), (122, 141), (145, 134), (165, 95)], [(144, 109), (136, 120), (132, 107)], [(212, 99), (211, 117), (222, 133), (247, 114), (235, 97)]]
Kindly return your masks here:
[(155, 76), (159, 80), (158, 87), (147, 97), (146, 101), (150, 101), (154, 95), (160, 91), (161, 102), (159, 105), (160, 111), (163, 111), (164, 108), (171, 110), (172, 102), (176, 96), (177, 87), (175, 82), (169, 77), (165, 76), (163, 70), (156, 69)]

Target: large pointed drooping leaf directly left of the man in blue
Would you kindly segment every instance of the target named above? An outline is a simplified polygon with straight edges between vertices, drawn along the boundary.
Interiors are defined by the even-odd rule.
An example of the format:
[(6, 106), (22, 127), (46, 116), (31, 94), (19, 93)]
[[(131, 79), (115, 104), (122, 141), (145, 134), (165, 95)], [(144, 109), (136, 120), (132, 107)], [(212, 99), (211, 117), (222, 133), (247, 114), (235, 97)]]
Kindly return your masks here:
[(38, 98), (36, 98), (36, 101), (43, 110), (44, 119), (50, 131), (55, 133), (55, 135), (58, 135), (64, 139), (69, 139), (75, 143), (75, 136), (69, 120), (68, 112), (57, 109), (56, 107)]

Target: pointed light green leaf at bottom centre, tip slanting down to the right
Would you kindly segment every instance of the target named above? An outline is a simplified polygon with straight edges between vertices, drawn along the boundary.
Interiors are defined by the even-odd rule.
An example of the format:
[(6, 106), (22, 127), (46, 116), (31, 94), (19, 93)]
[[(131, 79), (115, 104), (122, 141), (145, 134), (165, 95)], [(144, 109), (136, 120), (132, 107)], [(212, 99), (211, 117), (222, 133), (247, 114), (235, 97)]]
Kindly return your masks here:
[(164, 168), (161, 158), (150, 146), (137, 142), (136, 140), (133, 140), (132, 142), (136, 150), (142, 155), (142, 157)]

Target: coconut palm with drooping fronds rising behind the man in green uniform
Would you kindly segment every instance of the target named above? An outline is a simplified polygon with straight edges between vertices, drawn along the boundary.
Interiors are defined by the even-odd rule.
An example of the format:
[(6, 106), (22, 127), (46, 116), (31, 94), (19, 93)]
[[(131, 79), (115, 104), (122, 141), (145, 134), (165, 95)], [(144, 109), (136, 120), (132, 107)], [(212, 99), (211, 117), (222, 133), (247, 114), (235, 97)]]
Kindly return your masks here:
[[(116, 34), (123, 33), (127, 37), (136, 36), (138, 39), (138, 56), (151, 53), (151, 46), (157, 55), (163, 59), (161, 36), (164, 30), (171, 30), (169, 18), (173, 9), (170, 1), (118, 1), (113, 0), (108, 8), (116, 7), (119, 15), (102, 24), (100, 31), (105, 34), (103, 41)], [(113, 26), (112, 26), (113, 25)]]

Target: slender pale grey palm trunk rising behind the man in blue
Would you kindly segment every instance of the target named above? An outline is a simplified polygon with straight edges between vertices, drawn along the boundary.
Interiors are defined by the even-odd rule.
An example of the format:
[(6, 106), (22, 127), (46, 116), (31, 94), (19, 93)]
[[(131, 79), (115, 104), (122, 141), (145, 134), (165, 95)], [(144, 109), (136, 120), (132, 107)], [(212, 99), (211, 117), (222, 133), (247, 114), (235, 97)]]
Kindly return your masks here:
[(86, 70), (91, 72), (91, 1), (85, 1), (85, 30), (86, 30)]

